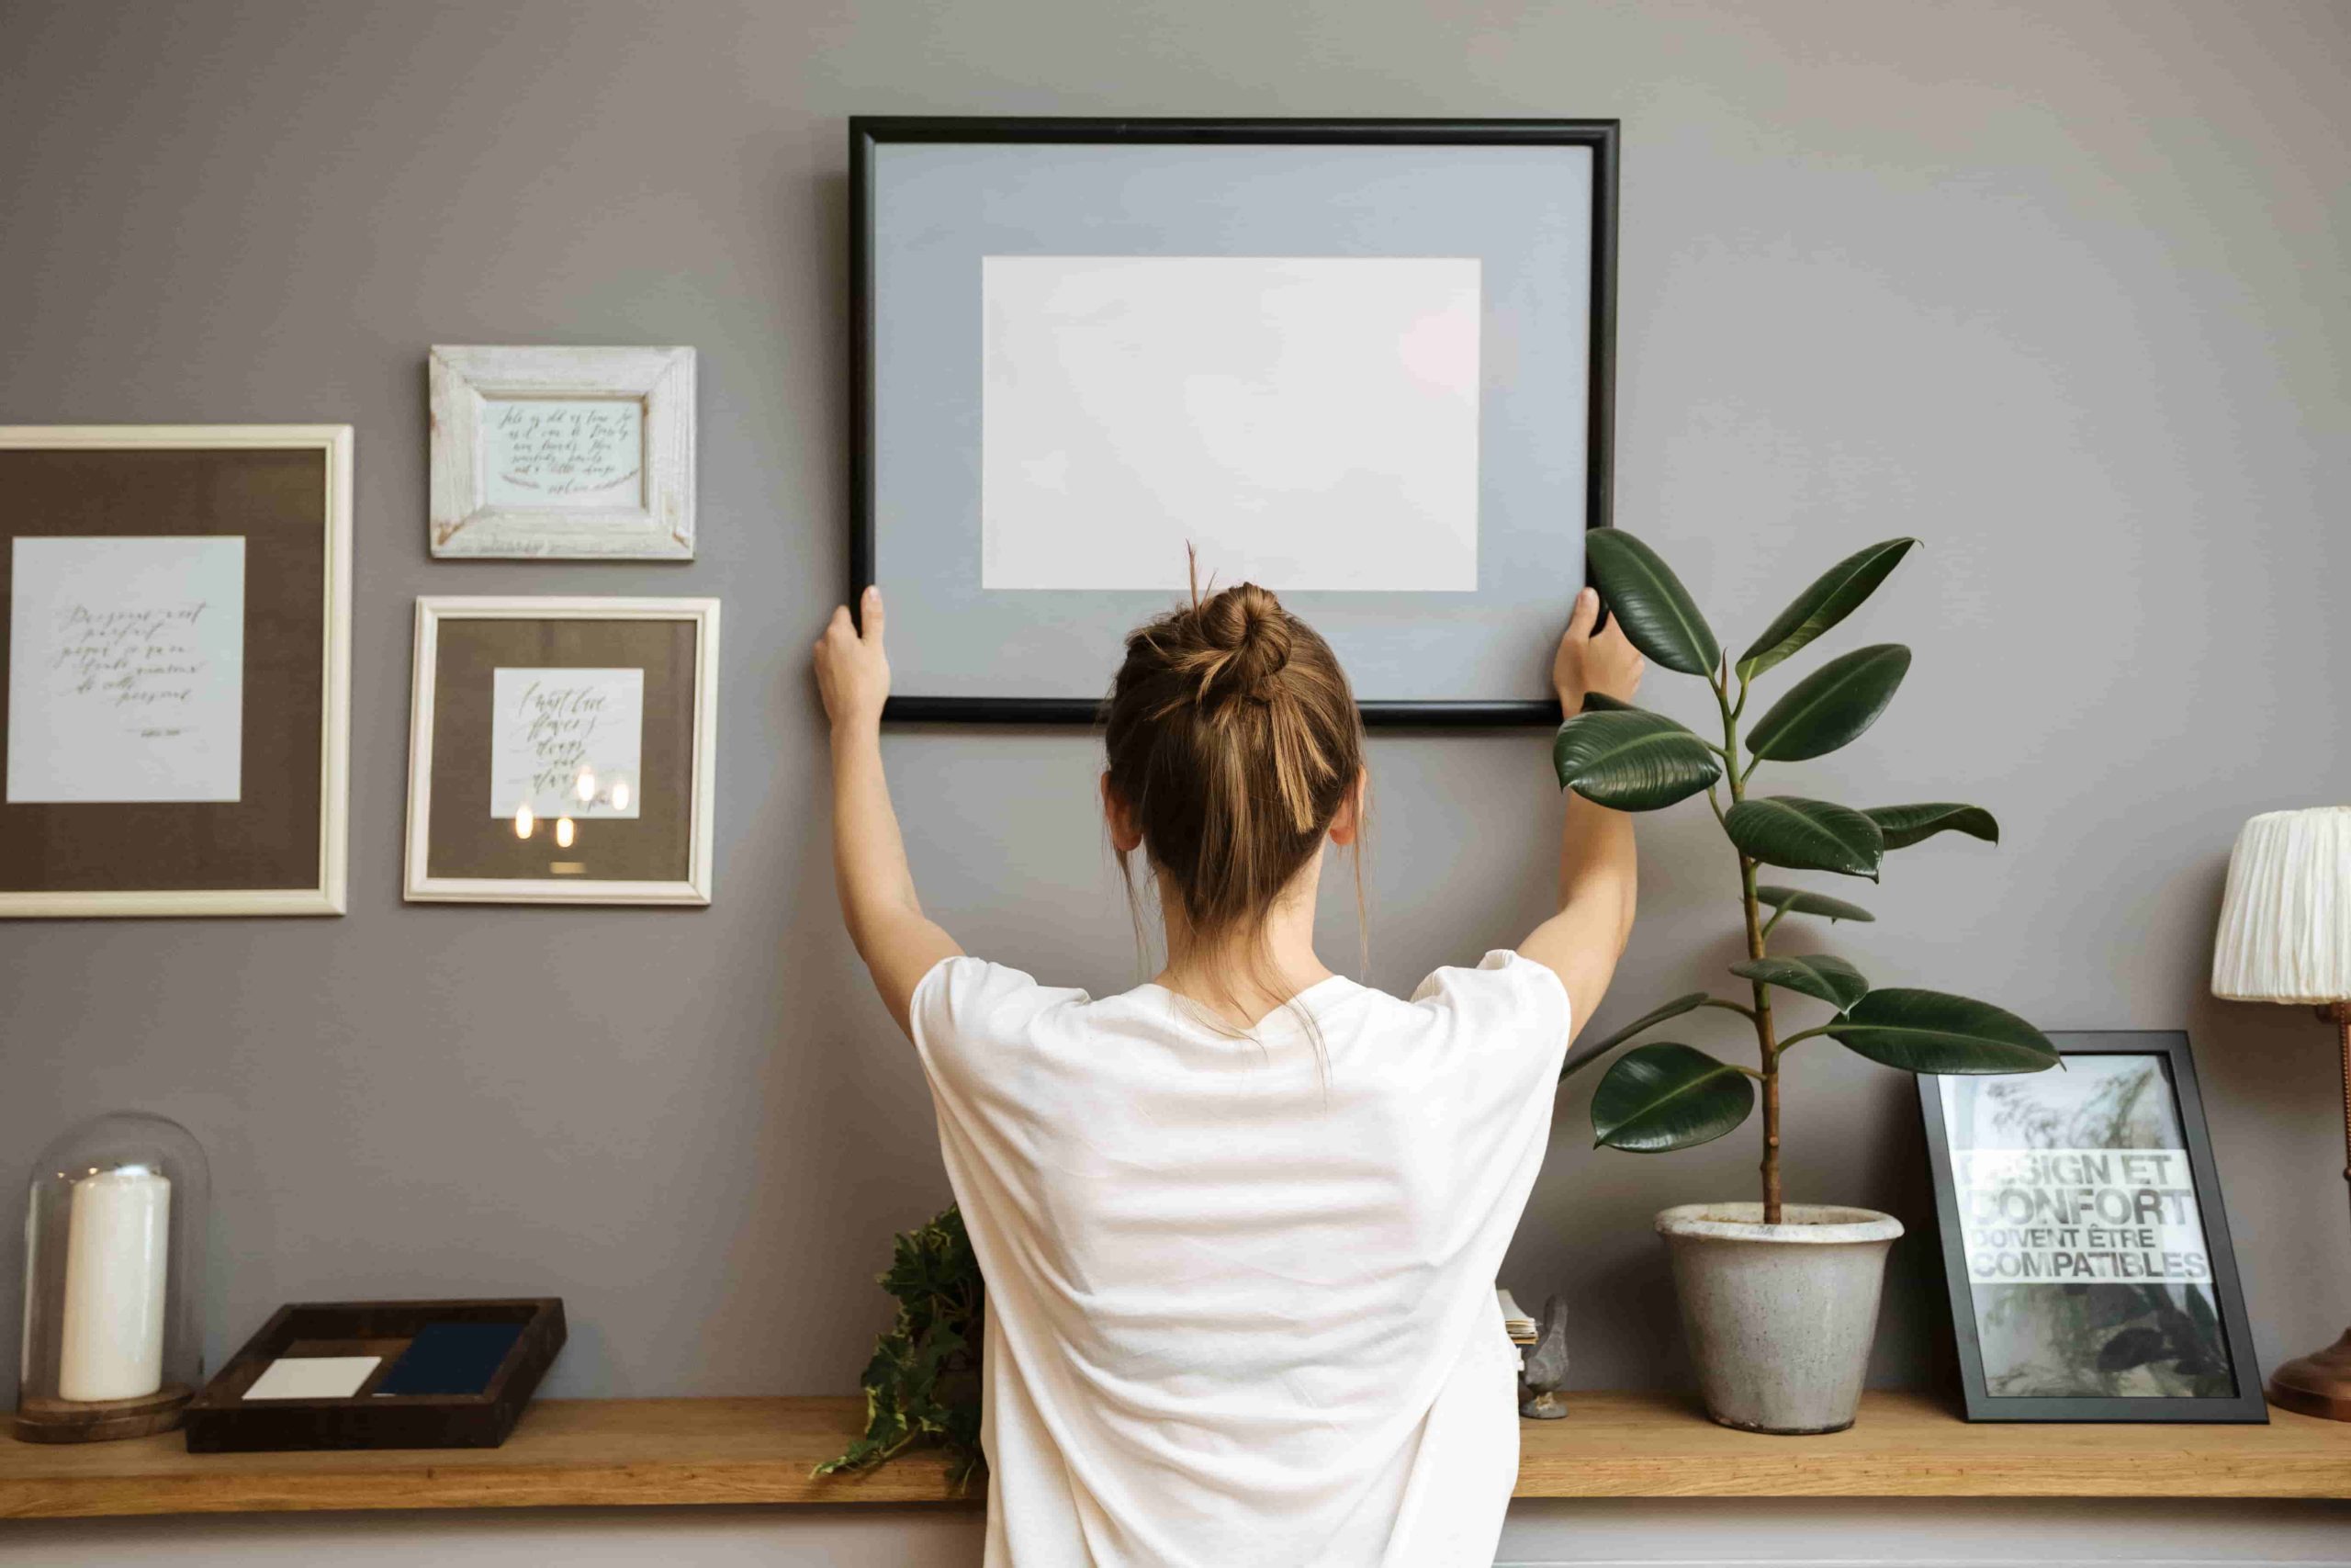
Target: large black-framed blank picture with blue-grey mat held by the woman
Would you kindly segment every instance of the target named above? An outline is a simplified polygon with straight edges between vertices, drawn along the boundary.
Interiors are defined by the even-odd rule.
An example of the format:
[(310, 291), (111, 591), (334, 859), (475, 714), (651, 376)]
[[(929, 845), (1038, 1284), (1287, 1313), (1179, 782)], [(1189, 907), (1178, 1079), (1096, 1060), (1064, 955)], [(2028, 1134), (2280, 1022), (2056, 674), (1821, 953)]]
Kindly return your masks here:
[(1091, 722), (1253, 581), (1368, 722), (1556, 724), (1610, 510), (1615, 120), (849, 122), (884, 717)]

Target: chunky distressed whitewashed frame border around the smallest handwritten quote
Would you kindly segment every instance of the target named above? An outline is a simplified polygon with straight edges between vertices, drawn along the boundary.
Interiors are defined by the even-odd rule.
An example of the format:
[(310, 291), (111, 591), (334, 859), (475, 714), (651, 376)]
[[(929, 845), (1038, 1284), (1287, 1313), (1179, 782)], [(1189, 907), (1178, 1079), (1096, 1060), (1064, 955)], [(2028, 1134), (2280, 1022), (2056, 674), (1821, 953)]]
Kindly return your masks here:
[[(433, 411), (433, 555), (694, 559), (691, 348), (454, 348), (426, 360)], [(482, 409), (508, 397), (639, 402), (635, 508), (489, 505)]]

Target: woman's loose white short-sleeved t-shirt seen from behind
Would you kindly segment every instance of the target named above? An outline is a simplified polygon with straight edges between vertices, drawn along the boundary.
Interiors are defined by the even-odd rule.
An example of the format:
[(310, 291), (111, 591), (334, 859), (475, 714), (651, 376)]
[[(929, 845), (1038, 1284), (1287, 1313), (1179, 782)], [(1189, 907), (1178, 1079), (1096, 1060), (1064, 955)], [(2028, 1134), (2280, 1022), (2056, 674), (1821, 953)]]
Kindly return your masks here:
[(987, 1276), (990, 1568), (1493, 1561), (1559, 976), (1333, 976), (1232, 1039), (959, 957), (915, 1044)]

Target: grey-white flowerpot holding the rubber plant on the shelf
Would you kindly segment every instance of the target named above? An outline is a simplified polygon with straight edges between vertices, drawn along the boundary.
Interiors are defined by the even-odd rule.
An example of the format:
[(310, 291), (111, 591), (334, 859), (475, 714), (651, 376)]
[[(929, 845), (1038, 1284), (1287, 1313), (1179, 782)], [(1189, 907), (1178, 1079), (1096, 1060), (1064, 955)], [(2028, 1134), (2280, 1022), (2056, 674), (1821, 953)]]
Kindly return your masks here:
[(1657, 1215), (1707, 1415), (1747, 1432), (1843, 1432), (1878, 1333), (1886, 1248), (1874, 1208), (1683, 1204)]

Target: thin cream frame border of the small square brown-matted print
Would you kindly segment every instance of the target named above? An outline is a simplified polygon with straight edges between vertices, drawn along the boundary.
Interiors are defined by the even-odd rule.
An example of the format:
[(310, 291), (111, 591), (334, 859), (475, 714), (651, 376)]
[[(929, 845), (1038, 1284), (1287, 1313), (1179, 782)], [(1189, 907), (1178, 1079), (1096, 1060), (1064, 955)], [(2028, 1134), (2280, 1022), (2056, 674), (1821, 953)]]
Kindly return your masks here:
[[(433, 877), (433, 684), (442, 621), (691, 621), (694, 788), (684, 882), (569, 882), (538, 877)], [(416, 689), (409, 701), (409, 832), (402, 896), (409, 903), (710, 903), (712, 802), (717, 792), (719, 602), (604, 597), (421, 597)]]

